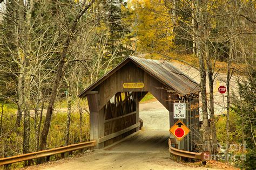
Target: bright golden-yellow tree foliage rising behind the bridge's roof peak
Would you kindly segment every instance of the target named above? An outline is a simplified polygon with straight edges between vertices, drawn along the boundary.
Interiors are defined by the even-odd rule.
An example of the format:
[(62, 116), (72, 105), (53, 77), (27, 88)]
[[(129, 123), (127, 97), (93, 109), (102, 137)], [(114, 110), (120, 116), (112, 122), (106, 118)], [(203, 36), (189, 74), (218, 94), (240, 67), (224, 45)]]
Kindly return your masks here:
[(173, 45), (170, 10), (164, 1), (134, 0), (133, 34), (136, 35), (139, 51), (169, 51)]

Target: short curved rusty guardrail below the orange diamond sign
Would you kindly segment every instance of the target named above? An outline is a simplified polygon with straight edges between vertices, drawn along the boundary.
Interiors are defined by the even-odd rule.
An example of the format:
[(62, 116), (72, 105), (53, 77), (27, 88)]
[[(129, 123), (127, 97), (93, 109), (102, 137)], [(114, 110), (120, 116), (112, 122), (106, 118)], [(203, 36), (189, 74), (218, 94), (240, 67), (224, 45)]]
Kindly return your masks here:
[(178, 150), (177, 148), (172, 147), (170, 138), (169, 138), (169, 151), (172, 154), (177, 155), (179, 157), (201, 160), (201, 161), (203, 161), (203, 164), (206, 164), (205, 163), (206, 160), (210, 160), (210, 152), (209, 151), (197, 153), (197, 152)]

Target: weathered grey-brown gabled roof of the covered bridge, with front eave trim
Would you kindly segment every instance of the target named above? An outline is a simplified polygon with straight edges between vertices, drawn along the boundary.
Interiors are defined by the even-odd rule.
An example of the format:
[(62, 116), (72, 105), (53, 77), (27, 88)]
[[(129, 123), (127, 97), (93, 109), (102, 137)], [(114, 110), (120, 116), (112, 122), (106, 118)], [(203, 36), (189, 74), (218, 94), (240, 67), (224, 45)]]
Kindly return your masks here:
[(88, 91), (93, 90), (95, 87), (98, 86), (98, 84), (102, 83), (129, 61), (135, 63), (138, 67), (142, 68), (145, 72), (155, 77), (158, 81), (162, 82), (167, 87), (176, 90), (177, 93), (180, 95), (193, 94), (200, 91), (200, 87), (197, 82), (193, 81), (187, 75), (180, 72), (176, 67), (172, 66), (170, 62), (129, 56), (122, 62), (120, 62), (116, 67), (111, 69), (108, 73), (106, 73), (104, 76), (100, 77), (100, 79), (97, 80), (95, 83), (87, 87), (78, 96), (84, 97)]

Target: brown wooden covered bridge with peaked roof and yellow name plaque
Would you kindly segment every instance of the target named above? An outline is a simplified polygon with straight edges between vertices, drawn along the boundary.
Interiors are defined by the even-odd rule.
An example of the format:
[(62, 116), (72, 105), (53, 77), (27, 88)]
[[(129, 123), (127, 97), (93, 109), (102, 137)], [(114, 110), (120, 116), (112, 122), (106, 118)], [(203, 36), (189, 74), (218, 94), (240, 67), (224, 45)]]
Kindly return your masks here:
[(79, 97), (87, 97), (91, 139), (97, 141), (98, 148), (139, 130), (139, 102), (147, 93), (169, 110), (170, 126), (177, 121), (173, 118), (173, 103), (186, 102), (187, 116), (183, 122), (191, 132), (180, 146), (191, 151), (199, 129), (199, 108), (194, 107), (199, 102), (199, 91), (198, 84), (171, 63), (129, 56)]

